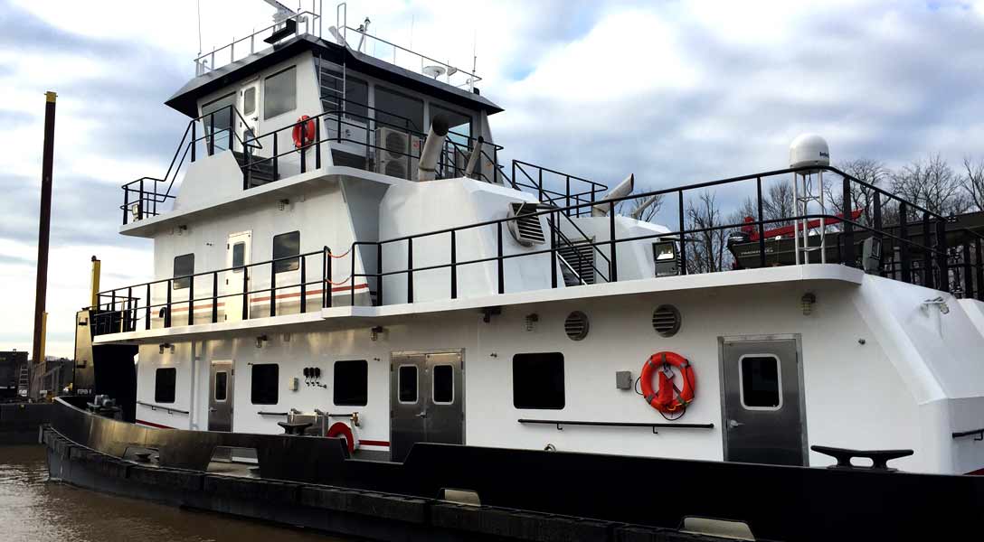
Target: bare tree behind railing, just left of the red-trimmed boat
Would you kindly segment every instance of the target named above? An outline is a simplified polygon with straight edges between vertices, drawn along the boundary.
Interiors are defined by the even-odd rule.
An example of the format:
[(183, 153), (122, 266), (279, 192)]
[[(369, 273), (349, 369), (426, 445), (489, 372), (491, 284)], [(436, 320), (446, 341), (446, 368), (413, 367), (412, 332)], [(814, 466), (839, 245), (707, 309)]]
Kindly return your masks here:
[(695, 231), (687, 235), (687, 272), (723, 271), (730, 262), (725, 251), (727, 231), (721, 226), (727, 222), (721, 217), (714, 193), (704, 191), (697, 205), (687, 204), (686, 228)]

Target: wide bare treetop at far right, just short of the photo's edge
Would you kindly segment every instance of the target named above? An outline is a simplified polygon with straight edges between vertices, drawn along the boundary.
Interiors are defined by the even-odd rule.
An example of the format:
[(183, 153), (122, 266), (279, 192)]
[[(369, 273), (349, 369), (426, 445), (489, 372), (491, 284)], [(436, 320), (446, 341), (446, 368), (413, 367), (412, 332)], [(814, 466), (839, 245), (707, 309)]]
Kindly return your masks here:
[(892, 173), (892, 192), (938, 214), (959, 214), (973, 205), (961, 179), (939, 153), (915, 160)]

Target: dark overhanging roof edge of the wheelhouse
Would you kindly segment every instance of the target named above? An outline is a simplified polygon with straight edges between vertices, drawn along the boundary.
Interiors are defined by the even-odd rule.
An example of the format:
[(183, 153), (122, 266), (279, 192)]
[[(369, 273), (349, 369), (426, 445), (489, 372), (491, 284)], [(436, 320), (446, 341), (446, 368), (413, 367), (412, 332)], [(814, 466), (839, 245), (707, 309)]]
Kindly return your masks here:
[(201, 96), (246, 79), (305, 50), (311, 50), (315, 55), (320, 53), (323, 59), (336, 64), (344, 64), (346, 68), (361, 74), (378, 78), (404, 89), (433, 95), (462, 107), (484, 110), (488, 114), (503, 110), (492, 101), (474, 92), (433, 80), (422, 74), (405, 70), (400, 66), (310, 34), (296, 35), (277, 43), (270, 49), (251, 54), (198, 76), (175, 92), (164, 103), (191, 118), (195, 118), (198, 116), (198, 99)]

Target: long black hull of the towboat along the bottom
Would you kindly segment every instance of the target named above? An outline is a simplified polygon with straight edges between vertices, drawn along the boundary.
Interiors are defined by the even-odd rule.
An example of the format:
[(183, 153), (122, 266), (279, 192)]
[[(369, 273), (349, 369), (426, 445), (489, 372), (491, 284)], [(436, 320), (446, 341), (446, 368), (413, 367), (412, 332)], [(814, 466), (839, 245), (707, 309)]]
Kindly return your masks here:
[[(386, 463), (307, 446), (340, 452), (332, 439), (276, 435), (224, 434), (258, 438), (263, 473), (230, 477), (97, 452), (160, 431), (169, 433), (163, 441), (173, 460), (195, 442), (211, 450), (215, 434), (139, 428), (59, 406), (44, 433), (53, 478), (380, 540), (701, 540), (676, 530), (687, 515), (743, 520), (759, 540), (957, 540), (974, 532), (984, 511), (984, 477), (977, 476), (443, 445), (418, 445), (404, 463)], [(136, 433), (127, 436), (130, 428)], [(69, 440), (70, 432), (84, 434), (86, 446)], [(166, 463), (163, 449), (160, 456)], [(320, 463), (313, 470), (312, 457)], [(481, 506), (438, 500), (444, 488), (475, 491)]]

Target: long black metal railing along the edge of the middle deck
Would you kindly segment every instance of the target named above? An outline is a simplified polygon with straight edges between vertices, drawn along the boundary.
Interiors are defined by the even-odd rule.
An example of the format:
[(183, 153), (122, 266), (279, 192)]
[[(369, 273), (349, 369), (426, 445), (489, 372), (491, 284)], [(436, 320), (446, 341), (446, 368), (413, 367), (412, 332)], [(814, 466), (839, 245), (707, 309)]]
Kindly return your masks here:
[[(780, 218), (766, 219), (762, 214), (761, 201), (759, 202), (759, 216), (757, 219), (752, 221), (743, 221), (739, 223), (722, 223), (713, 225), (710, 227), (693, 227), (685, 223), (683, 216), (685, 215), (685, 201), (686, 193), (696, 190), (704, 190), (708, 188), (720, 187), (723, 185), (735, 184), (735, 183), (755, 183), (756, 193), (762, 194), (761, 186), (763, 179), (768, 179), (769, 177), (776, 177), (781, 175), (788, 175), (790, 173), (803, 173), (807, 171), (816, 171), (817, 168), (812, 169), (799, 168), (799, 169), (781, 169), (775, 171), (769, 171), (765, 173), (744, 175), (740, 177), (732, 177), (727, 179), (720, 179), (716, 181), (708, 181), (704, 183), (697, 183), (683, 187), (670, 188), (665, 190), (651, 191), (641, 195), (632, 195), (622, 198), (614, 198), (611, 200), (606, 200), (599, 204), (598, 201), (585, 201), (576, 205), (569, 207), (547, 207), (539, 211), (530, 212), (523, 214), (523, 218), (528, 218), (529, 216), (546, 216), (546, 218), (552, 223), (558, 223), (561, 216), (578, 216), (579, 210), (582, 208), (590, 208), (592, 206), (601, 205), (607, 208), (607, 215), (605, 219), (608, 221), (608, 238), (601, 240), (585, 240), (584, 245), (589, 245), (594, 250), (602, 251), (607, 254), (607, 274), (603, 276), (604, 280), (609, 282), (615, 282), (619, 280), (619, 268), (618, 268), (618, 258), (616, 256), (616, 250), (619, 244), (623, 243), (633, 243), (641, 241), (654, 241), (654, 242), (666, 242), (673, 241), (677, 244), (680, 250), (680, 261), (687, 262), (687, 247), (688, 244), (694, 242), (694, 236), (699, 234), (705, 234), (707, 232), (733, 232), (742, 229), (747, 229), (749, 227), (755, 228), (760, 232), (765, 232), (765, 229), (770, 224), (788, 224), (793, 221), (795, 223), (801, 223), (809, 220), (825, 219), (829, 223), (839, 222), (836, 226), (829, 226), (838, 228), (836, 231), (836, 246), (839, 249), (839, 260), (840, 263), (848, 267), (860, 267), (861, 264), (858, 262), (858, 256), (855, 252), (855, 241), (867, 237), (876, 237), (878, 240), (884, 243), (879, 243), (879, 246), (886, 245), (890, 248), (892, 255), (895, 253), (900, 256), (896, 259), (892, 256), (889, 260), (888, 265), (882, 265), (877, 270), (882, 275), (888, 276), (894, 279), (900, 279), (905, 282), (910, 283), (921, 283), (924, 285), (933, 285), (937, 289), (950, 291), (951, 289), (956, 290), (956, 293), (963, 297), (976, 297), (977, 299), (984, 300), (984, 281), (981, 279), (982, 271), (982, 261), (980, 255), (982, 252), (982, 237), (980, 234), (967, 229), (967, 228), (951, 228), (947, 229), (947, 224), (950, 218), (942, 216), (938, 213), (928, 211), (917, 205), (905, 202), (888, 192), (874, 187), (868, 183), (864, 183), (858, 179), (855, 179), (833, 167), (823, 167), (826, 171), (830, 171), (837, 175), (840, 175), (845, 181), (842, 183), (841, 188), (844, 191), (845, 202), (851, 202), (850, 191), (857, 186), (864, 187), (868, 190), (874, 191), (876, 198), (874, 199), (874, 210), (873, 219), (869, 223), (855, 220), (849, 218), (849, 213), (844, 213), (844, 215), (834, 215), (830, 213), (809, 213), (797, 216), (783, 216)], [(654, 232), (645, 235), (632, 235), (619, 238), (617, 236), (615, 228), (615, 209), (617, 206), (629, 199), (634, 198), (647, 198), (657, 195), (675, 195), (676, 202), (678, 204), (678, 211), (680, 213), (680, 226), (676, 231), (669, 232)], [(899, 224), (892, 224), (886, 226), (882, 223), (883, 211), (886, 207), (886, 203), (882, 200), (885, 199), (886, 203), (894, 203), (898, 210), (898, 221)], [(672, 199), (670, 201), (673, 201)], [(850, 207), (850, 206), (846, 206)], [(918, 226), (910, 224), (907, 221), (907, 216), (912, 213), (921, 214), (921, 223)], [(506, 218), (498, 218), (492, 220), (486, 220), (482, 222), (477, 222), (473, 224), (467, 224), (463, 226), (445, 228), (441, 230), (435, 230), (425, 233), (407, 235), (387, 240), (381, 241), (356, 241), (352, 243), (351, 248), (346, 255), (352, 255), (349, 258), (349, 275), (348, 278), (339, 282), (338, 284), (347, 284), (342, 286), (341, 289), (349, 290), (350, 302), (351, 304), (356, 303), (356, 294), (359, 293), (359, 289), (366, 288), (369, 289), (371, 285), (375, 286), (374, 290), (370, 290), (369, 300), (375, 304), (387, 303), (387, 298), (383, 296), (383, 286), (384, 280), (391, 276), (404, 276), (405, 277), (405, 299), (391, 300), (390, 303), (407, 302), (412, 303), (414, 301), (414, 273), (421, 273), (424, 271), (435, 271), (435, 270), (449, 270), (450, 280), (448, 283), (448, 293), (451, 298), (457, 298), (460, 294), (460, 284), (459, 271), (464, 266), (474, 266), (480, 264), (495, 264), (495, 291), (490, 293), (505, 293), (506, 292), (506, 273), (505, 273), (505, 263), (507, 261), (518, 259), (518, 258), (528, 258), (535, 255), (550, 255), (550, 265), (553, 267), (553, 271), (550, 272), (551, 283), (550, 286), (556, 288), (559, 286), (558, 276), (557, 276), (557, 264), (561, 260), (559, 251), (563, 249), (563, 246), (558, 243), (557, 237), (553, 234), (549, 236), (549, 240), (545, 242), (544, 248), (528, 248), (521, 249), (517, 252), (517, 246), (510, 245), (509, 251), (507, 251), (506, 245), (506, 235), (504, 235), (503, 230), (509, 225), (512, 220), (518, 220), (521, 217), (513, 216)], [(920, 235), (913, 235), (910, 231), (911, 228), (918, 227), (921, 231)], [(459, 241), (461, 233), (469, 230), (476, 230), (481, 228), (491, 228), (492, 235), (491, 238), (495, 239), (495, 254), (490, 254), (480, 258), (471, 258), (461, 260), (459, 255)], [(413, 257), (413, 245), (414, 242), (420, 242), (424, 239), (433, 239), (437, 236), (447, 236), (450, 241), (448, 245), (448, 250), (446, 254), (449, 258), (446, 262), (428, 265), (418, 265), (414, 263)], [(950, 237), (953, 236), (953, 240)], [(819, 236), (811, 236), (819, 237)], [(767, 264), (767, 243), (773, 241), (766, 241), (764, 235), (760, 233), (758, 243), (752, 243), (757, 246), (758, 249), (758, 260), (761, 267), (765, 267)], [(383, 256), (384, 247), (387, 245), (398, 246), (402, 245), (405, 247), (405, 252), (403, 257), (405, 258), (405, 267), (398, 263), (396, 266), (390, 266), (385, 268), (383, 266)], [(354, 255), (357, 254), (356, 249), (359, 246), (363, 247), (375, 247), (376, 254), (376, 269), (375, 272), (369, 272), (368, 270), (363, 270), (363, 272), (356, 272), (356, 262)], [(881, 256), (885, 254), (886, 249), (883, 247), (882, 254), (872, 255), (881, 259)], [(512, 251), (512, 252), (511, 252)], [(507, 253), (509, 252), (509, 253)], [(913, 255), (918, 255), (919, 258), (913, 259)], [(970, 255), (976, 256), (976, 259), (971, 261)], [(315, 280), (308, 279), (308, 269), (310, 268), (308, 264), (309, 258), (321, 257), (320, 261), (320, 278)], [(343, 256), (345, 257), (345, 256)], [(251, 303), (255, 305), (257, 299), (252, 298), (252, 294), (269, 292), (269, 310), (260, 311), (259, 314), (263, 316), (277, 316), (277, 292), (283, 289), (294, 288), (299, 290), (300, 299), (304, 302), (299, 303), (297, 311), (303, 313), (307, 310), (307, 298), (309, 294), (313, 293), (307, 290), (307, 287), (312, 284), (321, 284), (322, 287), (322, 307), (330, 307), (332, 305), (332, 262), (335, 257), (331, 252), (325, 248), (322, 251), (311, 252), (302, 254), (299, 256), (291, 256), (286, 258), (279, 258), (276, 260), (270, 260), (267, 262), (249, 264), (241, 268), (227, 268), (224, 270), (217, 271), (206, 271), (195, 273), (185, 276), (175, 276), (166, 279), (155, 280), (152, 282), (147, 282), (144, 284), (139, 284), (136, 286), (129, 286), (126, 288), (117, 288), (114, 290), (108, 290), (106, 292), (101, 292), (99, 294), (99, 311), (96, 316), (96, 328), (100, 330), (112, 331), (134, 331), (140, 327), (140, 321), (143, 320), (143, 327), (145, 329), (150, 329), (152, 327), (151, 320), (154, 311), (157, 311), (157, 318), (160, 319), (161, 325), (163, 327), (170, 327), (173, 325), (171, 313), (174, 311), (175, 307), (184, 307), (183, 310), (188, 311), (188, 316), (186, 323), (191, 325), (195, 323), (204, 323), (196, 320), (194, 313), (196, 310), (200, 310), (203, 307), (196, 309), (195, 303), (200, 301), (211, 301), (211, 318), (208, 319), (212, 323), (217, 322), (217, 307), (220, 300), (225, 298), (239, 296), (242, 299), (242, 319), (250, 318), (250, 306)], [(277, 272), (275, 272), (275, 265), (278, 262), (291, 261), (297, 263), (297, 268), (295, 271), (299, 271), (300, 278), (297, 281), (291, 282), (287, 285), (277, 284)], [(250, 277), (255, 274), (253, 270), (265, 269), (269, 267), (269, 285), (265, 287), (257, 287), (251, 289)], [(686, 274), (688, 272), (688, 267), (686, 265), (682, 266), (680, 269), (681, 274)], [(229, 293), (220, 293), (218, 290), (218, 274), (226, 272), (241, 272), (243, 287), (241, 291)], [(211, 287), (208, 285), (208, 281), (205, 283), (206, 291), (210, 292), (208, 295), (198, 295), (196, 296), (196, 280), (195, 277), (201, 277), (203, 275), (211, 276)], [(367, 279), (363, 283), (359, 284), (358, 279)], [(173, 285), (175, 281), (181, 280), (182, 282), (188, 282), (189, 288), (187, 294), (181, 294), (181, 297), (185, 299), (174, 300), (172, 295)], [(201, 282), (201, 280), (199, 281)], [(254, 281), (256, 283), (257, 281)], [(154, 293), (152, 290), (154, 287), (161, 287), (161, 285), (166, 286), (163, 295), (160, 292)], [(178, 290), (180, 291), (180, 290)], [(291, 295), (297, 295), (296, 292)], [(392, 297), (392, 296), (391, 296)]]

